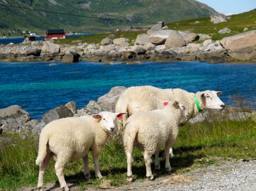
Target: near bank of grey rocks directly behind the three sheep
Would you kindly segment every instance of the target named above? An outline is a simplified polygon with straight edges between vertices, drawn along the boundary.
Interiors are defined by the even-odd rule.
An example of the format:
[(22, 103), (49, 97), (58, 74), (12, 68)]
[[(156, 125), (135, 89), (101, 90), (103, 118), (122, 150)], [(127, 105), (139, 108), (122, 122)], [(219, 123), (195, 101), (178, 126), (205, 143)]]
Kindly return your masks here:
[[(73, 101), (60, 105), (42, 114), (42, 120), (32, 119), (30, 114), (19, 105), (11, 105), (8, 108), (0, 109), (0, 134), (19, 133), (22, 136), (39, 135), (45, 124), (64, 117), (92, 115), (101, 111), (115, 112), (115, 105), (118, 97), (126, 88), (123, 86), (112, 87), (110, 92), (99, 97), (97, 101), (90, 100), (88, 105), (77, 109)], [(204, 110), (189, 120), (189, 123), (213, 122), (220, 120), (244, 120), (251, 118), (250, 109), (233, 108), (226, 106), (223, 111)], [(4, 137), (0, 137), (4, 139)]]

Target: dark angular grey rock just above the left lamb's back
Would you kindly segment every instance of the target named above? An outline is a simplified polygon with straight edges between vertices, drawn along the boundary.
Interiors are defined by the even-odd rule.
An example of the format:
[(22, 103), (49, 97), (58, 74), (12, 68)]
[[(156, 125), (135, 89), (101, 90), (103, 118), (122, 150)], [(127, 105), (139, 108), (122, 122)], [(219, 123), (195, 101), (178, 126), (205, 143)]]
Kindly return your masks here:
[(70, 109), (68, 109), (65, 105), (61, 105), (43, 114), (43, 121), (45, 124), (48, 124), (49, 122), (58, 120), (60, 118), (73, 117), (73, 115), (74, 114)]

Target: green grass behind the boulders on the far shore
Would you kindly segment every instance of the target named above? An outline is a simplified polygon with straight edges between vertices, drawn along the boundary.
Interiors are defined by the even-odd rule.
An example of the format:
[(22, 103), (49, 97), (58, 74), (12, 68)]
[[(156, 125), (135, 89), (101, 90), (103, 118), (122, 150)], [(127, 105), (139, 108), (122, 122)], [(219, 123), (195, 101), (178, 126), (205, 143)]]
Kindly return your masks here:
[[(172, 22), (166, 24), (169, 29), (177, 30), (177, 31), (190, 31), (197, 34), (211, 34), (212, 40), (221, 40), (224, 37), (229, 37), (231, 35), (235, 35), (238, 33), (242, 33), (244, 28), (248, 28), (248, 31), (255, 29), (255, 17), (256, 17), (256, 9), (242, 13), (237, 15), (230, 15), (230, 19), (228, 22), (220, 22), (220, 23), (211, 23), (210, 17), (190, 19), (178, 22)], [(223, 28), (231, 29), (231, 33), (220, 34), (218, 31)], [(88, 35), (86, 37), (76, 37), (69, 39), (60, 39), (56, 40), (55, 43), (58, 44), (78, 44), (75, 40), (79, 40), (79, 43), (88, 43), (88, 44), (99, 44), (103, 38), (110, 37), (114, 38), (128, 38), (130, 43), (133, 44), (133, 40), (136, 39), (137, 35), (141, 33), (146, 33), (146, 31), (120, 31), (120, 32), (112, 32), (112, 33), (101, 33), (101, 34), (93, 34)], [(73, 42), (74, 41), (74, 42)]]

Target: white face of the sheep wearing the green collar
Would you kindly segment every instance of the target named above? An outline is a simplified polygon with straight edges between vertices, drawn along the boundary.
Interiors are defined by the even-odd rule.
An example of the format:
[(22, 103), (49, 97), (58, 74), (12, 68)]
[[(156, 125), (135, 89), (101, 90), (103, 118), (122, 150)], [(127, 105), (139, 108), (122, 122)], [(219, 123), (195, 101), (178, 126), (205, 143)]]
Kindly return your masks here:
[(203, 102), (203, 105), (209, 109), (223, 110), (225, 104), (218, 97), (222, 92), (220, 91), (204, 91), (201, 92), (200, 98)]

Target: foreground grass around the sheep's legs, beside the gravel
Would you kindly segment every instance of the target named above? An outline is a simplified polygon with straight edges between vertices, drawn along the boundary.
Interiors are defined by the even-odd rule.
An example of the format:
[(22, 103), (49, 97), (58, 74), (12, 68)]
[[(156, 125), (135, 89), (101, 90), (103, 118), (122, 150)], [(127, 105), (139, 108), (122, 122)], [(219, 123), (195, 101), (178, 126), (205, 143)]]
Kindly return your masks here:
[[(191, 167), (218, 164), (221, 159), (252, 159), (256, 158), (256, 122), (250, 120), (203, 122), (186, 124), (180, 127), (177, 141), (174, 145), (174, 157), (170, 163), (174, 173), (182, 173)], [(38, 138), (3, 133), (0, 136), (0, 190), (17, 190), (22, 187), (36, 187), (38, 166)], [(163, 150), (160, 152), (161, 166), (164, 166)], [(153, 164), (153, 163), (152, 163)], [(89, 155), (89, 168), (94, 175), (92, 156)], [(79, 188), (99, 188), (104, 180), (111, 186), (126, 184), (127, 163), (121, 142), (110, 140), (100, 155), (100, 170), (104, 176), (98, 180), (84, 180), (82, 160), (77, 160), (65, 166), (66, 181), (75, 181)], [(153, 170), (153, 168), (152, 168)], [(145, 165), (140, 151), (134, 152), (133, 174), (136, 181), (145, 179)], [(154, 176), (165, 176), (164, 168), (153, 170)], [(44, 183), (56, 182), (58, 178), (54, 171), (54, 161), (50, 162), (44, 176)]]

